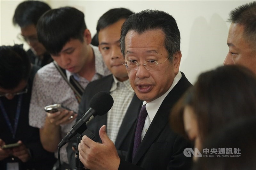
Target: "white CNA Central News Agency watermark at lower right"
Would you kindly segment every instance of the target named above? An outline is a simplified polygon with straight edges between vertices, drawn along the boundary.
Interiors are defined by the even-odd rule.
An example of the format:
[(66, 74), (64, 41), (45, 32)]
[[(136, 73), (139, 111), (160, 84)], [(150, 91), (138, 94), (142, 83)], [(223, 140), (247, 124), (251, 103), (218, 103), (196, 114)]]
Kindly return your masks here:
[(240, 148), (204, 148), (202, 154), (197, 148), (186, 148), (183, 154), (186, 157), (240, 157), (240, 151)]

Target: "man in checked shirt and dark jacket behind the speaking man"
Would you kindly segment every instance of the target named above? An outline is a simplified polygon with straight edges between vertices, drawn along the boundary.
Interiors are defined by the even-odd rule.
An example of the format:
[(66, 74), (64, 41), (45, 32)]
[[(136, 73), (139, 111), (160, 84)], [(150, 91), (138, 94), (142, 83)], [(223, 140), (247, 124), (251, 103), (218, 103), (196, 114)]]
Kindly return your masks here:
[[(100, 17), (97, 24), (99, 50), (112, 74), (87, 85), (78, 110), (78, 119), (80, 119), (90, 108), (90, 100), (96, 93), (106, 91), (112, 95), (114, 104), (110, 111), (105, 115), (96, 116), (88, 122), (87, 127), (95, 135), (94, 141), (102, 142), (99, 130), (102, 125), (107, 125), (108, 135), (115, 143), (121, 159), (126, 157), (132, 130), (142, 104), (130, 85), (126, 68), (122, 64), (123, 56), (120, 49), (121, 26), (132, 13), (125, 8), (114, 8)], [(76, 137), (69, 142), (67, 147), (69, 164), (73, 168), (75, 167), (75, 153), (71, 146), (76, 142), (75, 140)]]

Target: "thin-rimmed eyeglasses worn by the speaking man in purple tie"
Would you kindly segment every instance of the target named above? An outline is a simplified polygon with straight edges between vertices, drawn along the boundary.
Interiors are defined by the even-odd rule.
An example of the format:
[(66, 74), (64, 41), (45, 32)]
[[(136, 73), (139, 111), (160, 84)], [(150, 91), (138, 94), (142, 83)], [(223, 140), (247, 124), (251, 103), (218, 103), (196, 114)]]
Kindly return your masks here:
[[(170, 55), (166, 60), (168, 60), (172, 55)], [(164, 60), (162, 63), (164, 63), (166, 60)], [(124, 65), (126, 67), (127, 70), (131, 70), (131, 71), (135, 71), (139, 69), (140, 65), (143, 65), (145, 67), (145, 69), (149, 70), (149, 71), (154, 71), (156, 70), (156, 68), (158, 67), (159, 64), (162, 63), (157, 63), (157, 61), (155, 60), (146, 60), (146, 63), (144, 64), (139, 64), (138, 62), (136, 62), (135, 60), (128, 60), (124, 62)]]

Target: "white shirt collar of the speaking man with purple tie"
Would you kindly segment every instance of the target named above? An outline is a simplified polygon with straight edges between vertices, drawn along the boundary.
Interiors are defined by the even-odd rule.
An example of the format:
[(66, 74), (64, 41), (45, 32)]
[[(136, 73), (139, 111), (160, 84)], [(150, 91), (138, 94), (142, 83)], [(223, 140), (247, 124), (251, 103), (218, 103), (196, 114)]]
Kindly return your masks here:
[(154, 117), (156, 115), (156, 112), (158, 111), (158, 109), (161, 106), (162, 102), (164, 101), (165, 97), (169, 94), (169, 92), (171, 92), (173, 87), (180, 81), (181, 77), (182, 77), (182, 74), (179, 71), (178, 74), (175, 76), (175, 78), (173, 80), (173, 83), (172, 83), (171, 87), (169, 88), (169, 90), (167, 90), (167, 92), (165, 92), (159, 98), (157, 98), (157, 99), (155, 99), (153, 101), (150, 101), (148, 103), (146, 101), (143, 101), (143, 105), (147, 104), (146, 105), (146, 110), (148, 112), (148, 116), (149, 116), (150, 122), (153, 121), (153, 119), (154, 119)]

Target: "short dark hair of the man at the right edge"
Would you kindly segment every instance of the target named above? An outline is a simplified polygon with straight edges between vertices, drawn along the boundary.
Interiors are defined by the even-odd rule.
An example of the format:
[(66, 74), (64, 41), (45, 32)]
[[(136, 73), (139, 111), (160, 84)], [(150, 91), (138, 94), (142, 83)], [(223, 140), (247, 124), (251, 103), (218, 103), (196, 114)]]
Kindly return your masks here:
[(243, 4), (229, 13), (228, 21), (244, 26), (246, 40), (256, 42), (256, 1)]

